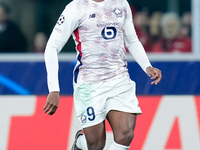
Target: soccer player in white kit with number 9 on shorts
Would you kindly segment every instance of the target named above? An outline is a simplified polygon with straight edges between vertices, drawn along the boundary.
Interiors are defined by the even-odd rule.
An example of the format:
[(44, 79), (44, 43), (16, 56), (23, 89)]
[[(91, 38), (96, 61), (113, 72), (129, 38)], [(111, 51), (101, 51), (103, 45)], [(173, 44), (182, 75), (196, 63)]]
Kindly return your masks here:
[[(102, 150), (105, 119), (113, 130), (109, 150), (127, 150), (133, 139), (136, 116), (141, 114), (131, 81), (124, 43), (134, 59), (151, 76), (161, 80), (153, 68), (133, 26), (126, 0), (74, 0), (62, 12), (45, 50), (49, 95), (45, 113), (52, 115), (59, 104), (58, 53), (73, 35), (77, 65), (74, 68), (74, 106), (83, 132), (77, 132), (72, 150)], [(137, 73), (137, 72), (135, 72)]]

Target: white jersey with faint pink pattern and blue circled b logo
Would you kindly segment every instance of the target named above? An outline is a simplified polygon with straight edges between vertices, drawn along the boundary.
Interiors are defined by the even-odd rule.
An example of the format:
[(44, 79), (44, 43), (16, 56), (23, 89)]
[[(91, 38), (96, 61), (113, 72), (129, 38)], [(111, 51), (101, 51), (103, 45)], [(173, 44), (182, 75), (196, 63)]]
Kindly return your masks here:
[(75, 83), (105, 81), (127, 73), (124, 23), (129, 14), (126, 0), (74, 0), (66, 6), (51, 36), (67, 42), (73, 35)]

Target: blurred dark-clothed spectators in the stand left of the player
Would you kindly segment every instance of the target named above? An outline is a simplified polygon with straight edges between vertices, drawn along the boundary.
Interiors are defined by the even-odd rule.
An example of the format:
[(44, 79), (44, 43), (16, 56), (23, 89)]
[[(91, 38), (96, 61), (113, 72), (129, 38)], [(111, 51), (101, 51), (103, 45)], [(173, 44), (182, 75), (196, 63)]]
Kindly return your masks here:
[(0, 2), (0, 52), (44, 52), (48, 40), (46, 33), (36, 32), (33, 41), (30, 42), (31, 45), (29, 45), (25, 34), (11, 19), (10, 14), (10, 7), (4, 2)]

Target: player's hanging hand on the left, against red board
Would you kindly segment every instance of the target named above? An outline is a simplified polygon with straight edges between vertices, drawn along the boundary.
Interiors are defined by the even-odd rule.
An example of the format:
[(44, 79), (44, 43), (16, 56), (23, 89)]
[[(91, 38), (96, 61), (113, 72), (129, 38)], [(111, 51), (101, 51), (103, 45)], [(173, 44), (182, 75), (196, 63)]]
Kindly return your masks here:
[(46, 104), (43, 108), (44, 112), (48, 115), (53, 115), (59, 105), (59, 92), (51, 92), (47, 97)]

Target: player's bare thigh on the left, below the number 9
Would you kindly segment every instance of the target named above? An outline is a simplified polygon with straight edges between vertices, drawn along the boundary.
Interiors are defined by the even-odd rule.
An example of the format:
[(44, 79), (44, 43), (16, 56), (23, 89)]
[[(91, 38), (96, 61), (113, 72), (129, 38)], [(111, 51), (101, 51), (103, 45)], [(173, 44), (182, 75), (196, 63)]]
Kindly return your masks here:
[(92, 144), (105, 145), (105, 140), (106, 140), (105, 121), (90, 127), (83, 128), (83, 131), (87, 143), (89, 145)]

